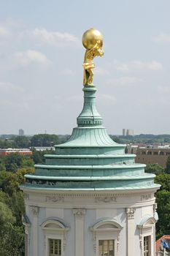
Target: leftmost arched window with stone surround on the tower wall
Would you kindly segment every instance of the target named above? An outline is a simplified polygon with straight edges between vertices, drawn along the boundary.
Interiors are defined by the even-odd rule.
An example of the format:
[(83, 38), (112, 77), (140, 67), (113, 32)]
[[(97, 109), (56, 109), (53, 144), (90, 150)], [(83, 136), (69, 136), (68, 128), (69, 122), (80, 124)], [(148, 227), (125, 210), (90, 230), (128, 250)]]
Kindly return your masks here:
[(57, 219), (47, 219), (41, 227), (45, 234), (45, 256), (64, 256), (69, 227)]

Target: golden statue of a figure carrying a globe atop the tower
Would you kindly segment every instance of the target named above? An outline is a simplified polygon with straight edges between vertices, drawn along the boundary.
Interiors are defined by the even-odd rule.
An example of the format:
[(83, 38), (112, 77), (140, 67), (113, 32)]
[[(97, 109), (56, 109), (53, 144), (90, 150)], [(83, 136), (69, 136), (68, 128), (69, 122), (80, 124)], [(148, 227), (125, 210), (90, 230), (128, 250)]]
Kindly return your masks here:
[(84, 67), (83, 85), (93, 86), (93, 68), (95, 64), (93, 59), (96, 56), (103, 56), (103, 36), (101, 32), (96, 29), (88, 29), (82, 35), (82, 45), (87, 49), (85, 50), (85, 59), (82, 67)]

